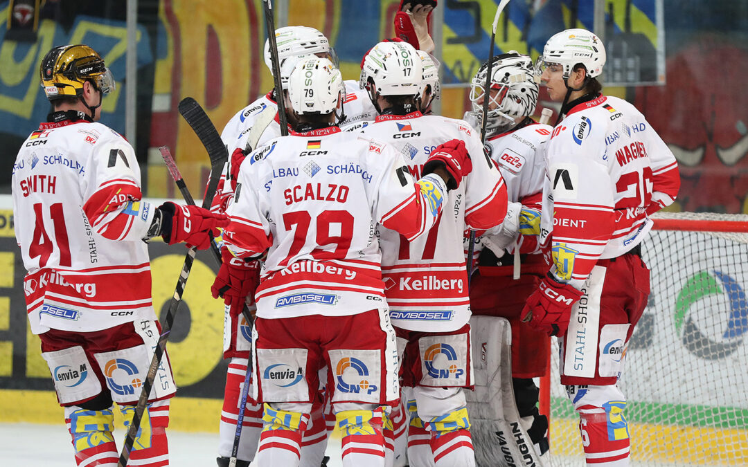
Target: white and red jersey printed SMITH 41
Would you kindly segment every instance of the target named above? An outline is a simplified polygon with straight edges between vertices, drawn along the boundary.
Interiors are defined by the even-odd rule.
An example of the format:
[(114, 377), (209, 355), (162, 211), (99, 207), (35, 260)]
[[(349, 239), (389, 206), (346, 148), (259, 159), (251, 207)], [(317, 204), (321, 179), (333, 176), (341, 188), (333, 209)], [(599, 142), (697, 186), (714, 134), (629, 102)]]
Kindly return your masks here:
[(31, 332), (156, 319), (132, 146), (100, 123), (42, 123), (13, 165), (13, 218)]

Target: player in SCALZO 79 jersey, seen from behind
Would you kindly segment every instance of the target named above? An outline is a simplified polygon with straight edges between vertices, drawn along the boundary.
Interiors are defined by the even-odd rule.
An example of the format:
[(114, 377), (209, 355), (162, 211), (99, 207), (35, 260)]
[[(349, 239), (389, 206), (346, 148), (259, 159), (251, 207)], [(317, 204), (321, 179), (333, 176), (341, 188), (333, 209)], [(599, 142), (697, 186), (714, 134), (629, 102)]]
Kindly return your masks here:
[(224, 241), (236, 256), (269, 249), (252, 353), (253, 398), (265, 402), (260, 466), (298, 465), (325, 365), (343, 465), (384, 465), (382, 416), (399, 385), (375, 225), (409, 240), (425, 234), (447, 186), (459, 188), (471, 169), (459, 145), (437, 147), (414, 184), (391, 146), (334, 125), (341, 81), (327, 59), (297, 64), (289, 78), (295, 132), (250, 156), (227, 211)]

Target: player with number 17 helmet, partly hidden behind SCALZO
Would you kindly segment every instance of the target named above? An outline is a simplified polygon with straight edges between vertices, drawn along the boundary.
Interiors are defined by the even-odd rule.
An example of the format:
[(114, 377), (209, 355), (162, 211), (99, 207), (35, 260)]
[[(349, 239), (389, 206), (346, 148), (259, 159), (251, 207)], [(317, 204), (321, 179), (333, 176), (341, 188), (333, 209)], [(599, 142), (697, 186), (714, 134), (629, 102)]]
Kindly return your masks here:
[(453, 138), (461, 140), (476, 165), (465, 183), (450, 191), (448, 209), (429, 235), (410, 241), (386, 225), (378, 227), (390, 318), (405, 352), (402, 376), (406, 386), (414, 387), (417, 415), (425, 422), (419, 428), (412, 420), (408, 459), (411, 466), (471, 466), (475, 461), (462, 392), (473, 384), (462, 232), (466, 224), (489, 229), (501, 223), (506, 187), (468, 123), (418, 111), (422, 72), (408, 43), (382, 42), (370, 50), (361, 86), (379, 116), (363, 134), (401, 152), (414, 176), (428, 167), (438, 145)]

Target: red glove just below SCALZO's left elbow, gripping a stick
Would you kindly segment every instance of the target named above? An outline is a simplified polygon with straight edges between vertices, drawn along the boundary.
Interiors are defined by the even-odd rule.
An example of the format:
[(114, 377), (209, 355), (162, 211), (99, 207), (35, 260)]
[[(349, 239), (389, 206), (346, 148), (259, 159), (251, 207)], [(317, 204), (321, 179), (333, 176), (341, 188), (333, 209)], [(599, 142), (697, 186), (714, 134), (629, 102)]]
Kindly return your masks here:
[(233, 256), (228, 248), (221, 251), (221, 269), (215, 277), (210, 293), (213, 298), (223, 297), (230, 306), (230, 314), (239, 316), (247, 297), (254, 303), (254, 291), (260, 285), (260, 262), (245, 262)]

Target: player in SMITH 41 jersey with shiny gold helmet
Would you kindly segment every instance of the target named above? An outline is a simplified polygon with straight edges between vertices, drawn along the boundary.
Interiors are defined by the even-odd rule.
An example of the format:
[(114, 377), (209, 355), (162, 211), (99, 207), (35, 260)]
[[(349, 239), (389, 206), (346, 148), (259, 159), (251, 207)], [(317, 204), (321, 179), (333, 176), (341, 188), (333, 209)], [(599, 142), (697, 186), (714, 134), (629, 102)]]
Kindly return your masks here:
[[(141, 200), (132, 146), (95, 123), (114, 78), (93, 49), (55, 47), (40, 75), (53, 111), (23, 143), (12, 182), (28, 320), (64, 407), (76, 463), (114, 466), (113, 402), (129, 425), (159, 338), (143, 240), (162, 235), (204, 249), (207, 232), (227, 217)], [(168, 356), (156, 382), (131, 465), (168, 465), (165, 429), (176, 391)]]

